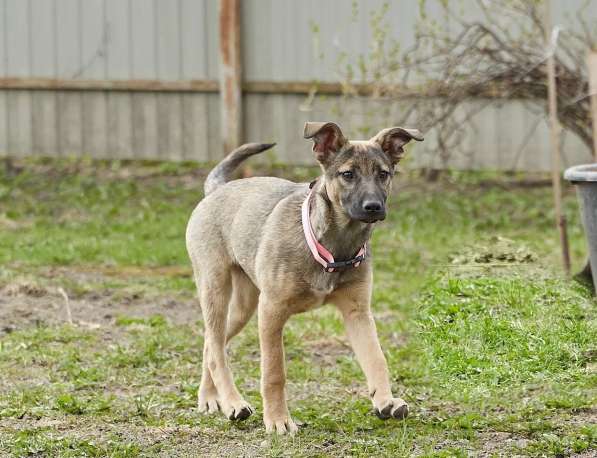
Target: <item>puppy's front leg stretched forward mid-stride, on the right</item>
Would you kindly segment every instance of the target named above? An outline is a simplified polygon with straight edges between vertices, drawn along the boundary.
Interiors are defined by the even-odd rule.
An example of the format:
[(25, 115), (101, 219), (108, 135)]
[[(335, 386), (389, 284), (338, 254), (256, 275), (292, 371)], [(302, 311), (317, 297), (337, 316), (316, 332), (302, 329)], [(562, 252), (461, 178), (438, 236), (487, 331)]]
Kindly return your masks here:
[(401, 420), (408, 415), (408, 406), (392, 396), (388, 365), (377, 338), (369, 298), (369, 292), (351, 291), (336, 297), (334, 303), (342, 312), (346, 334), (367, 377), (375, 413), (382, 419)]

